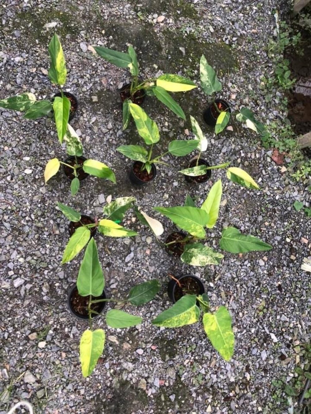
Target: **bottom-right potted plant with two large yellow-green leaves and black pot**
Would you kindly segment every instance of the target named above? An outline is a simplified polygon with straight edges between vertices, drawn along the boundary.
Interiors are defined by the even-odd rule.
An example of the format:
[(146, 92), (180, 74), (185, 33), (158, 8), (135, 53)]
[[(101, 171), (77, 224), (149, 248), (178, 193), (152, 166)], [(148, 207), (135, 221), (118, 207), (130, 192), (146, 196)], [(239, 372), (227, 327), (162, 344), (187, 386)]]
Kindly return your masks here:
[[(187, 282), (185, 282), (185, 279), (187, 279)], [(207, 337), (216, 351), (226, 361), (230, 361), (234, 349), (231, 315), (225, 306), (220, 306), (216, 312), (211, 313), (209, 311), (209, 298), (204, 293), (204, 286), (199, 281), (199, 286), (203, 286), (202, 292), (202, 289), (200, 290), (196, 286), (195, 282), (197, 281), (195, 279), (189, 275), (179, 278), (173, 277), (173, 280), (169, 283), (169, 289), (170, 284), (173, 283), (173, 294), (175, 296), (171, 296), (170, 290), (168, 294), (174, 304), (160, 313), (152, 323), (160, 327), (177, 328), (198, 322), (202, 312), (202, 323)], [(178, 295), (175, 292), (178, 292)]]

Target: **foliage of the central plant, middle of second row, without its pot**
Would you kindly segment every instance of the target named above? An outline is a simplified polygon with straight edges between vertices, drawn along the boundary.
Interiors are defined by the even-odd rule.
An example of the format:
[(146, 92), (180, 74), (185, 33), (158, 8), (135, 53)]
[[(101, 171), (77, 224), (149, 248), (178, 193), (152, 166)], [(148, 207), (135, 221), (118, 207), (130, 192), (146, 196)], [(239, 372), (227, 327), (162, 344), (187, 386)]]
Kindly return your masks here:
[(163, 154), (152, 157), (153, 146), (160, 140), (160, 133), (158, 125), (146, 114), (146, 112), (135, 103), (129, 103), (129, 111), (131, 112), (138, 134), (143, 138), (146, 145), (150, 145), (147, 149), (141, 145), (121, 145), (117, 148), (117, 151), (127, 156), (134, 161), (140, 161), (142, 163), (141, 171), (146, 170), (148, 173), (151, 171), (152, 164), (165, 164), (161, 161), (161, 158), (166, 154), (175, 156), (185, 156), (190, 154), (195, 148), (197, 148), (197, 140), (173, 140), (168, 145), (168, 151)]

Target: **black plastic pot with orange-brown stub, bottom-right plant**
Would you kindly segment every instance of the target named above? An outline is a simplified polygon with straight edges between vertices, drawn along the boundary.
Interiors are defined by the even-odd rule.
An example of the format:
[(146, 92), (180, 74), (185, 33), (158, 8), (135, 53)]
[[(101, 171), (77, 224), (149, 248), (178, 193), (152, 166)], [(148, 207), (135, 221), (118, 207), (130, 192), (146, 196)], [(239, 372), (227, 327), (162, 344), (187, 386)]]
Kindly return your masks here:
[(187, 274), (185, 276), (176, 277), (179, 284), (174, 280), (168, 282), (168, 297), (175, 303), (184, 295), (202, 295), (205, 292), (203, 283), (196, 276)]

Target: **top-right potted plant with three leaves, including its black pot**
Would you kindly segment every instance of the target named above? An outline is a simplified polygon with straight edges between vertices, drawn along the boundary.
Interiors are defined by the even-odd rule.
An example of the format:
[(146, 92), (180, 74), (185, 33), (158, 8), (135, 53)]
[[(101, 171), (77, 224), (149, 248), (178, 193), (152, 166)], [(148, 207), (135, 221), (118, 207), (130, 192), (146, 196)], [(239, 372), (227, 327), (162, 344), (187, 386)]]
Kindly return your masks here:
[[(231, 107), (228, 102), (216, 98), (215, 93), (221, 91), (222, 84), (219, 82), (215, 70), (207, 63), (204, 55), (200, 59), (200, 81), (205, 94), (212, 97), (212, 102), (204, 111), (203, 118), (208, 125), (215, 127), (215, 134), (217, 135), (228, 125)], [(255, 120), (253, 112), (248, 108), (241, 108), (240, 112), (236, 114), (236, 119), (245, 122), (246, 126), (255, 132), (260, 134), (265, 132), (265, 126)]]

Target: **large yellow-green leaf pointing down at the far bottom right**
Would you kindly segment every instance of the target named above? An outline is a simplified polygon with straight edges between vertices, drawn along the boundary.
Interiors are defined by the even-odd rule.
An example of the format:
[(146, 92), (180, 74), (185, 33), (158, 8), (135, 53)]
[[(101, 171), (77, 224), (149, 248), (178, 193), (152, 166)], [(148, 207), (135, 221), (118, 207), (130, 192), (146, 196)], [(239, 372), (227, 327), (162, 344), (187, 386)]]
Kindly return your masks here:
[(228, 310), (221, 306), (214, 315), (204, 313), (203, 325), (213, 347), (226, 361), (230, 361), (234, 349), (234, 334)]

